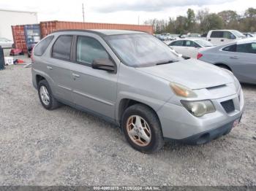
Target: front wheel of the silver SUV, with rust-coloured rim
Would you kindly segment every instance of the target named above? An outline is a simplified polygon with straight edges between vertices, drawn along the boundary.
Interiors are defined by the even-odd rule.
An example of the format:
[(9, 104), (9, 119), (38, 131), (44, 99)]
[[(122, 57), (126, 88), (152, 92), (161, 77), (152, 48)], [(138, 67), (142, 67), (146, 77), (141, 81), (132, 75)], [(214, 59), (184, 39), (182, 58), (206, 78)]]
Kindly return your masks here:
[[(140, 125), (136, 123), (137, 121), (139, 121), (139, 124), (141, 124), (142, 128), (140, 128), (140, 130), (138, 130), (138, 126)], [(151, 108), (143, 104), (135, 104), (133, 106), (129, 106), (129, 108), (124, 111), (121, 119), (121, 128), (124, 131), (124, 136), (127, 139), (128, 143), (132, 146), (132, 148), (140, 152), (157, 152), (164, 145), (161, 125), (157, 114)], [(128, 131), (130, 133), (128, 133)], [(143, 137), (145, 137), (145, 133), (147, 139), (148, 137), (150, 137), (149, 141), (146, 141), (146, 139), (140, 137), (143, 135)], [(140, 134), (140, 136), (137, 136), (135, 134)], [(135, 139), (138, 140), (135, 141)]]

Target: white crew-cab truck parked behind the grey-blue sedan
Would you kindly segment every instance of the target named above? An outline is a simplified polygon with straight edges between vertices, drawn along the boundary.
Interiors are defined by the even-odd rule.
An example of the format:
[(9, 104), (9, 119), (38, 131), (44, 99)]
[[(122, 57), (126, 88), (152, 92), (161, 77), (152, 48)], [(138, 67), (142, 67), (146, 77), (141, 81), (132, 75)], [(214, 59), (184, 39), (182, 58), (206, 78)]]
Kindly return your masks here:
[(214, 45), (221, 45), (244, 38), (246, 38), (246, 36), (236, 30), (212, 30), (208, 31), (206, 40)]

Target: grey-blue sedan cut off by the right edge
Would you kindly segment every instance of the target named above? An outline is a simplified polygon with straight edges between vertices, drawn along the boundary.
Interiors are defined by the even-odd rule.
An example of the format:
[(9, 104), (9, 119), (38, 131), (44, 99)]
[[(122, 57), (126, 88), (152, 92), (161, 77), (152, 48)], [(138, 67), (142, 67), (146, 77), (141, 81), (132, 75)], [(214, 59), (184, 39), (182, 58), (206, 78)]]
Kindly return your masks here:
[(240, 82), (256, 84), (256, 38), (204, 50), (198, 58), (232, 71)]

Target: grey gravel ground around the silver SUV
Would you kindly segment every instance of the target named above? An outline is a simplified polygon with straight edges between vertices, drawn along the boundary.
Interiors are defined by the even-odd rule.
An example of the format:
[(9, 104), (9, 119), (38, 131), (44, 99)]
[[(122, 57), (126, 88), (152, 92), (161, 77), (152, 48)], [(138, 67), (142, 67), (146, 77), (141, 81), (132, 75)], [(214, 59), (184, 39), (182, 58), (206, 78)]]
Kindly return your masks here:
[(145, 155), (118, 128), (69, 106), (39, 103), (31, 69), (0, 71), (1, 185), (256, 185), (256, 86), (243, 85), (241, 124), (201, 146)]

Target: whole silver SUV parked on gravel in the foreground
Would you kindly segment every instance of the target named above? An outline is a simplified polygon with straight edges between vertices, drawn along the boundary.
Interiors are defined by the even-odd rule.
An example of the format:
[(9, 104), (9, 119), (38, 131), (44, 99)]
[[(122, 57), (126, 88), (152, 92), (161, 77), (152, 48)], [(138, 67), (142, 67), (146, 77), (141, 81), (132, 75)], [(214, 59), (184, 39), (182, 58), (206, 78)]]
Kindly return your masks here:
[(57, 31), (33, 52), (32, 77), (45, 109), (60, 103), (121, 126), (131, 146), (165, 140), (204, 144), (238, 124), (244, 95), (230, 71), (185, 60), (138, 31)]

